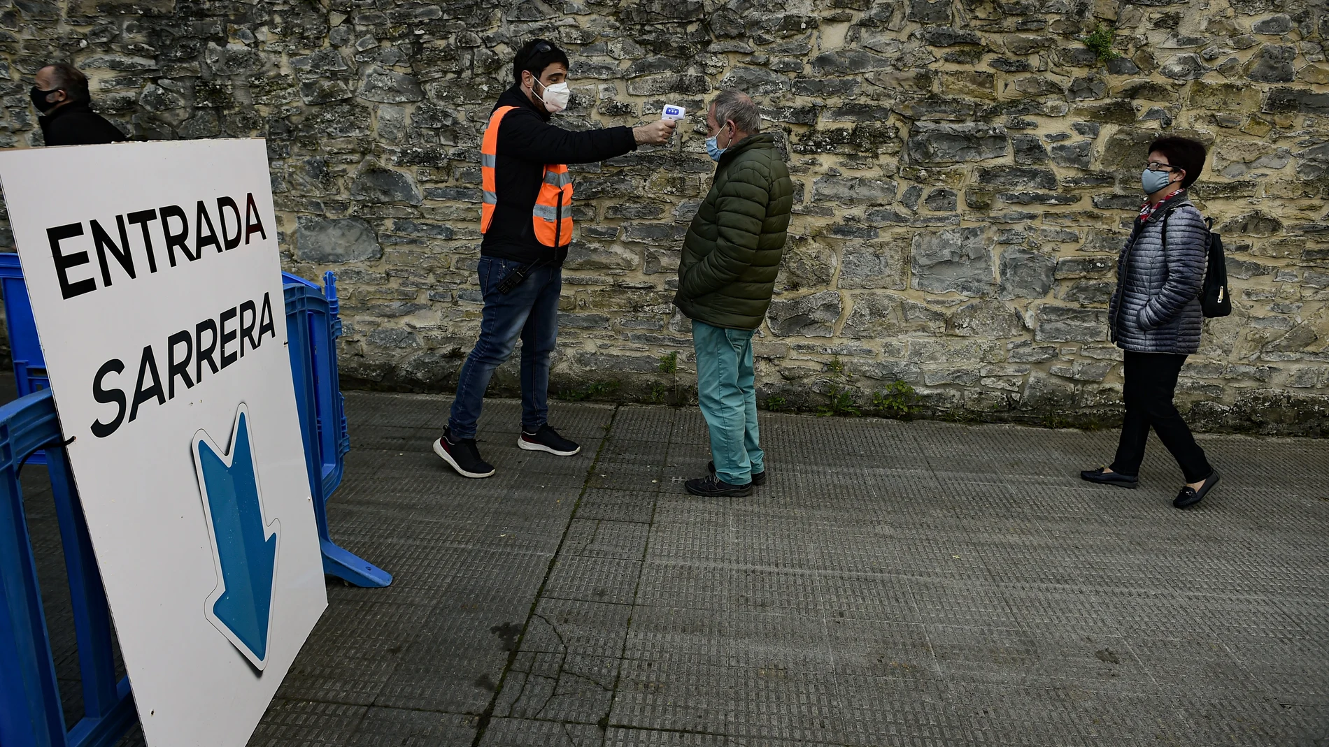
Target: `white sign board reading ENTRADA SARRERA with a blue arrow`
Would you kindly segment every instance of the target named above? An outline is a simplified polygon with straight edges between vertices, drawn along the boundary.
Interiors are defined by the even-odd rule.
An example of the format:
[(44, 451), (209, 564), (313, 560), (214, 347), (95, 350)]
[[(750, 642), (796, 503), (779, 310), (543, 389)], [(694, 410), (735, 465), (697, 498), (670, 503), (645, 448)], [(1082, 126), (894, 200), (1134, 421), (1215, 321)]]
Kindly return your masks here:
[(0, 153), (148, 743), (247, 740), (327, 606), (263, 141)]

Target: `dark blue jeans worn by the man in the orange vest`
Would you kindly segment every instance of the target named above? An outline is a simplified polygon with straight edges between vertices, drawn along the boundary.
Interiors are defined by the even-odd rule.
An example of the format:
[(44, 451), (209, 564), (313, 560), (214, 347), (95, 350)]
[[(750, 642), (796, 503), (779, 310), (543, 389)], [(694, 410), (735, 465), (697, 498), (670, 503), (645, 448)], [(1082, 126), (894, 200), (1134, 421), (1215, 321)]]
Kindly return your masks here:
[(540, 430), (549, 419), (549, 356), (558, 341), (558, 293), (563, 271), (545, 265), (530, 271), (521, 285), (508, 293), (497, 291), (509, 272), (522, 263), (480, 257), (480, 289), (485, 310), (480, 320), (480, 340), (461, 366), (457, 398), (452, 401), (448, 429), (453, 438), (476, 438), (476, 421), (494, 369), (512, 356), (521, 338), (521, 426)]

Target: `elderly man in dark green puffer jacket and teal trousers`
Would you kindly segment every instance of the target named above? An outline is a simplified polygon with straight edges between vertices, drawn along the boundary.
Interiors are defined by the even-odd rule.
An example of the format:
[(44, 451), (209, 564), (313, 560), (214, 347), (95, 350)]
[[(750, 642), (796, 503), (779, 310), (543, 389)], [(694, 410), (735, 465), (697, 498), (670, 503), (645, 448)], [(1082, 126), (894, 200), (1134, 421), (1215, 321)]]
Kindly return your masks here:
[(706, 111), (706, 150), (719, 166), (683, 239), (674, 305), (692, 320), (696, 393), (714, 460), (708, 476), (684, 486), (702, 496), (751, 495), (766, 482), (752, 333), (775, 292), (793, 184), (747, 96), (722, 92)]

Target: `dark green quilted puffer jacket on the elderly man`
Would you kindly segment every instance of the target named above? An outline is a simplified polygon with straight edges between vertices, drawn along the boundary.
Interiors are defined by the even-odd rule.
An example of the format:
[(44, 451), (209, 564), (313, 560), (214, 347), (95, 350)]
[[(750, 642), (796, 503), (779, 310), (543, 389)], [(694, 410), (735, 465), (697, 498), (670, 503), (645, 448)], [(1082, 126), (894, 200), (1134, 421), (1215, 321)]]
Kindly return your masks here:
[(714, 326), (762, 326), (792, 208), (793, 184), (775, 135), (748, 135), (728, 147), (687, 227), (674, 305)]

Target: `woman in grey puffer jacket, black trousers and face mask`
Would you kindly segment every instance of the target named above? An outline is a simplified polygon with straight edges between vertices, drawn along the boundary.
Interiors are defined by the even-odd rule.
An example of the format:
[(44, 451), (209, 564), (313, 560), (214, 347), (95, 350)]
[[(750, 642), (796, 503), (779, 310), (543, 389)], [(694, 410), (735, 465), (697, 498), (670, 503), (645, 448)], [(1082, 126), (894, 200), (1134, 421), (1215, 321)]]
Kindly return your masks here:
[(1185, 195), (1204, 158), (1204, 145), (1187, 138), (1150, 145), (1140, 176), (1148, 200), (1122, 248), (1107, 312), (1112, 341), (1126, 352), (1122, 439), (1111, 467), (1080, 472), (1088, 482), (1134, 488), (1152, 426), (1185, 475), (1187, 484), (1172, 502), (1177, 508), (1199, 503), (1219, 482), (1172, 403), (1185, 357), (1200, 349), (1204, 322), (1199, 296), (1209, 232)]

